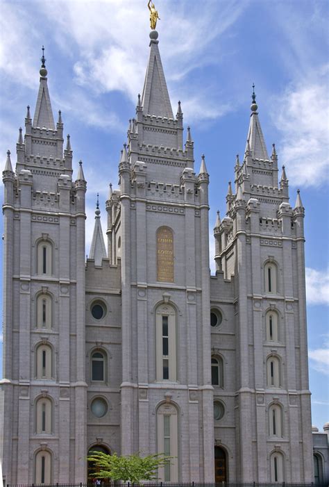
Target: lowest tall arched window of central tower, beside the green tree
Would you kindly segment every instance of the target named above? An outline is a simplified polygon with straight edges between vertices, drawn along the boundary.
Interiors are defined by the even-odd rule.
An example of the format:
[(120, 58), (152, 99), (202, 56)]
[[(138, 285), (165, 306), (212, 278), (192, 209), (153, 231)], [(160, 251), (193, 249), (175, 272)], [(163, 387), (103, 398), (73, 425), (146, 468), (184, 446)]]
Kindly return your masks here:
[(178, 414), (174, 404), (162, 404), (157, 411), (158, 453), (172, 458), (158, 469), (162, 481), (178, 481)]

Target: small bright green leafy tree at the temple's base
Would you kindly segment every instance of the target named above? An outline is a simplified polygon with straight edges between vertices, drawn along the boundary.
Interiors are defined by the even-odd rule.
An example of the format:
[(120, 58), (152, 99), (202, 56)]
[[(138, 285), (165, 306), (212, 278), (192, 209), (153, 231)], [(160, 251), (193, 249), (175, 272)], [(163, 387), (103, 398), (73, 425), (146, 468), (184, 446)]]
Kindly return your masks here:
[(116, 453), (108, 455), (103, 452), (92, 452), (87, 457), (94, 465), (97, 478), (129, 481), (134, 484), (139, 484), (142, 480), (157, 479), (158, 467), (170, 463), (171, 458), (162, 453), (142, 457), (139, 454), (117, 456)]

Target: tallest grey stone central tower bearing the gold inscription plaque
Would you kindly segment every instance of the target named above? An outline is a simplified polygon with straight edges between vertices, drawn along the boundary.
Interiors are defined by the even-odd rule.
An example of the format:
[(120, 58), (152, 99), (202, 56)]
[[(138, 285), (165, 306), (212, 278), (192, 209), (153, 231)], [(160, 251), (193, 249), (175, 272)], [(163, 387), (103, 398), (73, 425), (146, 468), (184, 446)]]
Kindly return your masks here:
[(150, 38), (107, 208), (122, 272), (121, 453), (166, 452), (175, 459), (162, 480), (212, 481), (209, 176), (204, 157), (194, 170), (189, 129), (183, 146), (182, 107), (174, 116), (158, 33)]

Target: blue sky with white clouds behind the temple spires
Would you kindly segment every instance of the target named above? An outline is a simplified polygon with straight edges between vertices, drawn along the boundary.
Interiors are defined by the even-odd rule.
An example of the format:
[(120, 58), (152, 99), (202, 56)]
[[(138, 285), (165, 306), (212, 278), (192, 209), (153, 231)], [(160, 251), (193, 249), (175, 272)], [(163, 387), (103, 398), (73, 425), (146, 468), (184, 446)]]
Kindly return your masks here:
[[(16, 161), (26, 105), (33, 116), (44, 44), (55, 118), (62, 110), (75, 172), (78, 160), (84, 163), (86, 253), (96, 192), (104, 217), (108, 183), (117, 186), (120, 149), (142, 92), (149, 56), (146, 3), (0, 2), (3, 165), (8, 149), (12, 163)], [(292, 206), (296, 189), (301, 189), (312, 422), (322, 429), (329, 420), (329, 3), (157, 0), (155, 6), (171, 104), (176, 113), (178, 100), (182, 102), (185, 127), (191, 126), (195, 142), (196, 170), (205, 153), (210, 173), (210, 234), (217, 209), (225, 213), (235, 154), (244, 154), (253, 83), (268, 150), (276, 142), (279, 165), (286, 166)]]

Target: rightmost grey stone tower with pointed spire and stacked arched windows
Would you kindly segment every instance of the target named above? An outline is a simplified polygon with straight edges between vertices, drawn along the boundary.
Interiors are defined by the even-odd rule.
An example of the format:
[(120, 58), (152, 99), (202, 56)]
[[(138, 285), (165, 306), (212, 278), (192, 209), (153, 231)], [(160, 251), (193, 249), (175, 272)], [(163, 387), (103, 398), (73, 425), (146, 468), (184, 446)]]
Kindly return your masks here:
[(226, 324), (213, 329), (213, 353), (223, 356), (231, 381), (222, 391), (214, 386), (215, 397), (230, 411), (235, 407), (221, 430), (215, 424), (215, 438), (221, 436), (227, 451), (235, 452), (237, 480), (311, 481), (304, 208), (299, 192), (294, 209), (289, 205), (284, 167), (278, 184), (276, 147), (269, 157), (255, 92), (252, 98), (244, 161), (240, 165), (237, 158), (235, 165), (235, 194), (229, 183), (227, 214), (214, 228), (212, 314), (232, 320), (235, 337), (233, 345)]

